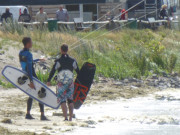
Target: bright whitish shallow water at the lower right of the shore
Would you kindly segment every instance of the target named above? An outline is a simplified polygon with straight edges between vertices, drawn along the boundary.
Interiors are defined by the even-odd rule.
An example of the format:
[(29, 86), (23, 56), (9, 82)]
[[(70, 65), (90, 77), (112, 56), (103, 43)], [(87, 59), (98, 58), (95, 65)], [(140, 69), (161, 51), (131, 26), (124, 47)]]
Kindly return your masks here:
[(75, 114), (78, 119), (94, 120), (96, 124), (67, 134), (180, 135), (180, 90), (86, 105)]

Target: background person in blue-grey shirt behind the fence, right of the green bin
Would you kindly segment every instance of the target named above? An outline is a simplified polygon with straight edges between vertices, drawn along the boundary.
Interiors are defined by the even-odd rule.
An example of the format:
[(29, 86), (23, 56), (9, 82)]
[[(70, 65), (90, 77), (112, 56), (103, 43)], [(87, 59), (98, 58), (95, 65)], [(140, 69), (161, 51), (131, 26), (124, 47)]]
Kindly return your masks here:
[(62, 22), (69, 21), (69, 15), (67, 9), (64, 9), (63, 5), (60, 5), (59, 10), (56, 12), (56, 19)]

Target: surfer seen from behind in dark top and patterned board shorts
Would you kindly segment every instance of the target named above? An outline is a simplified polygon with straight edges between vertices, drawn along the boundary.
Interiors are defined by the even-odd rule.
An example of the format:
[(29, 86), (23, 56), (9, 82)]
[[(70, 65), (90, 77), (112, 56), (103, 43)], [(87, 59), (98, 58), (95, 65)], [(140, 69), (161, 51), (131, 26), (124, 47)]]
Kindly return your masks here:
[[(56, 71), (57, 75), (57, 96), (58, 102), (61, 104), (65, 121), (72, 121), (73, 117), (73, 93), (74, 93), (74, 82), (73, 82), (73, 70), (79, 74), (79, 67), (76, 60), (70, 57), (68, 54), (68, 45), (63, 44), (61, 46), (61, 57), (55, 60), (55, 64), (50, 72), (47, 85), (50, 86), (50, 81), (53, 78)], [(68, 101), (69, 108), (69, 119), (67, 116), (67, 105)]]

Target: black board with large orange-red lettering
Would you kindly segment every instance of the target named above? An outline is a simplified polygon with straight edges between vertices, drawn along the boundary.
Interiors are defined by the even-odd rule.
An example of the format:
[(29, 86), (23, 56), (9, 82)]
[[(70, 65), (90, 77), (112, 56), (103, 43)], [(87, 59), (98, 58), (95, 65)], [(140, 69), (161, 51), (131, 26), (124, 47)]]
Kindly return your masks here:
[(84, 63), (79, 75), (77, 76), (74, 86), (74, 108), (79, 109), (84, 103), (91, 85), (93, 83), (96, 66), (91, 63)]

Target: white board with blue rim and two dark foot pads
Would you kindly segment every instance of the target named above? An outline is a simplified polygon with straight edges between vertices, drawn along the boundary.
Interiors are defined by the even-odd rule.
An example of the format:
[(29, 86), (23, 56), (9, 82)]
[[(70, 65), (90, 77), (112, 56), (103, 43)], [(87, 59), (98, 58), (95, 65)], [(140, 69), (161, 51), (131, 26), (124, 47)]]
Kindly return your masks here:
[(59, 108), (60, 104), (57, 102), (56, 94), (38, 79), (33, 78), (36, 89), (31, 89), (29, 87), (28, 84), (30, 83), (30, 80), (26, 72), (12, 66), (6, 66), (2, 70), (2, 75), (15, 87), (33, 99), (53, 109)]

